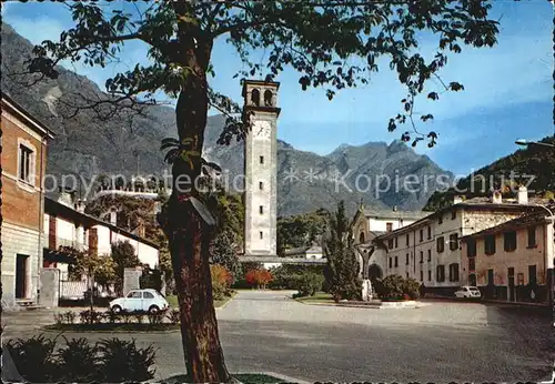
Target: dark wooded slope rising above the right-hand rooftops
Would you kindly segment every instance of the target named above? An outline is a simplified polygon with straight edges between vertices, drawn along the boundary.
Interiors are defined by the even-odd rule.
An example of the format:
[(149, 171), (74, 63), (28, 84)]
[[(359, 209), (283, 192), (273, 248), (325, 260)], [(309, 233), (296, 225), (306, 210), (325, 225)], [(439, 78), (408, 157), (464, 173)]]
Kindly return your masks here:
[[(555, 144), (555, 139), (545, 138), (542, 142)], [(527, 185), (531, 194), (553, 199), (555, 149), (535, 145), (521, 149), (460, 180), (456, 190), (434, 193), (424, 210), (435, 211), (450, 204), (455, 195), (464, 198), (487, 195), (492, 189), (502, 189), (505, 195), (511, 196), (518, 184)]]

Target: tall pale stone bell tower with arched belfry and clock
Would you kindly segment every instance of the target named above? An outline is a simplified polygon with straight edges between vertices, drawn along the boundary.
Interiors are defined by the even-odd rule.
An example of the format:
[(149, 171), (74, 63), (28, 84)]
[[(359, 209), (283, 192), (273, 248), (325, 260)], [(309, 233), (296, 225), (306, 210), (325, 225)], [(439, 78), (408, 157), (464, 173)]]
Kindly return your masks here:
[(276, 256), (278, 89), (280, 83), (243, 80), (244, 113), (251, 130), (244, 143), (244, 255)]

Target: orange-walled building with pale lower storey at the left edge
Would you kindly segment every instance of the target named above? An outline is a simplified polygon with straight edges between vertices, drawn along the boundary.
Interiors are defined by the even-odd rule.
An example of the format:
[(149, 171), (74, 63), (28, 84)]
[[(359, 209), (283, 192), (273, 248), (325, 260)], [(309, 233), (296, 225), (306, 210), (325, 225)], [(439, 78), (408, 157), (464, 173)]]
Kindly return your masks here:
[(2, 305), (39, 304), (43, 194), (52, 132), (2, 93)]

